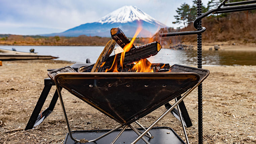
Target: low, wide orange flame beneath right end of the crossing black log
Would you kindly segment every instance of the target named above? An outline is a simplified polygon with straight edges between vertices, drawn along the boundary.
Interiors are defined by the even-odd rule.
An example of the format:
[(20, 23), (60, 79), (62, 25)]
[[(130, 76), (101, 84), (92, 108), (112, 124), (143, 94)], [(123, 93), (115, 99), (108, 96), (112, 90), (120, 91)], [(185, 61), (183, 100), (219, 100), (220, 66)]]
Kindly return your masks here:
[(131, 68), (131, 71), (135, 72), (154, 72), (151, 68), (151, 63), (147, 59), (137, 61), (136, 64)]

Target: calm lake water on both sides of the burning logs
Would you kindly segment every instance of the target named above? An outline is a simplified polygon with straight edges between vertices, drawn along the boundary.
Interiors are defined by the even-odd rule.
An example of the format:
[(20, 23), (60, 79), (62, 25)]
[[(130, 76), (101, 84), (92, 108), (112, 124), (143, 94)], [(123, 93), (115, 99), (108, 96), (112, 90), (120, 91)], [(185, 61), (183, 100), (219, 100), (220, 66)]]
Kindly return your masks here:
[[(2, 49), (29, 52), (31, 48), (38, 55), (51, 55), (59, 57), (56, 60), (72, 62), (85, 62), (87, 58), (95, 63), (102, 52), (102, 46), (0, 46)], [(112, 54), (113, 55), (113, 54)], [(204, 51), (203, 65), (256, 65), (256, 52), (237, 51)], [(196, 51), (182, 51), (161, 49), (154, 57), (149, 58), (151, 63), (169, 63), (182, 65), (197, 65)]]

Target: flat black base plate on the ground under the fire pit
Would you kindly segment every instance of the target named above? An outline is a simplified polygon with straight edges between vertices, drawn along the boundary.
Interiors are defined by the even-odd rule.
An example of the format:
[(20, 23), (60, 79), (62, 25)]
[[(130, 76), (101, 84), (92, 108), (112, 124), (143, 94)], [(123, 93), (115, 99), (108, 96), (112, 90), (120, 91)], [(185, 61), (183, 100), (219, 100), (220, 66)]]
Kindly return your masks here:
[[(139, 129), (142, 131), (142, 129)], [(72, 136), (78, 140), (80, 139), (95, 139), (110, 130), (85, 130), (85, 131), (72, 131)], [(102, 139), (96, 141), (97, 144), (110, 144), (121, 130), (117, 130)], [(169, 127), (154, 127), (150, 130), (150, 133), (154, 138), (150, 139), (145, 137), (151, 144), (185, 144), (185, 142), (175, 133), (172, 128)], [(138, 135), (132, 129), (126, 129), (115, 144), (129, 144), (135, 140)], [(67, 133), (64, 144), (77, 144), (74, 142)], [(94, 142), (88, 142), (86, 144), (95, 144)], [(137, 144), (145, 144), (143, 140), (139, 140)]]

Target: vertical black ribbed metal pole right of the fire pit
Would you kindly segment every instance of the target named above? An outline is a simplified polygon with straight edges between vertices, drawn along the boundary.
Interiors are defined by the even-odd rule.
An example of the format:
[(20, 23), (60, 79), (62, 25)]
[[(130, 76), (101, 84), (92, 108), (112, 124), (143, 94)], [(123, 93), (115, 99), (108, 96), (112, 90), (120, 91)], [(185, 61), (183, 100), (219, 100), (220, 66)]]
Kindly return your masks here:
[[(197, 0), (197, 17), (202, 14), (202, 1)], [(197, 23), (197, 30), (202, 29), (202, 20)], [(197, 34), (197, 67), (202, 68), (202, 34)], [(203, 143), (203, 116), (202, 116), (202, 84), (198, 86), (198, 144)]]

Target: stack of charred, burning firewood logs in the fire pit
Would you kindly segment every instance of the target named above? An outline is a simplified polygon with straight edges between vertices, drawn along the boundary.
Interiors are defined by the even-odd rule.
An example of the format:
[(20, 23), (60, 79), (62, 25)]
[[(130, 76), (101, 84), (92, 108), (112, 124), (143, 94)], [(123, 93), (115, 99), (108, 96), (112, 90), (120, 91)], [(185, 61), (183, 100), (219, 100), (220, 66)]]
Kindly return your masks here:
[[(154, 72), (169, 71), (169, 64), (150, 63), (147, 60), (147, 58), (156, 55), (161, 50), (162, 46), (158, 42), (135, 47), (120, 28), (112, 28), (110, 33), (113, 40), (106, 44), (96, 63), (79, 68), (79, 72), (135, 72), (136, 70), (133, 67), (141, 60), (149, 65)], [(121, 53), (109, 56), (113, 52), (116, 43), (122, 49), (129, 46), (129, 51), (123, 52), (122, 50)]]

